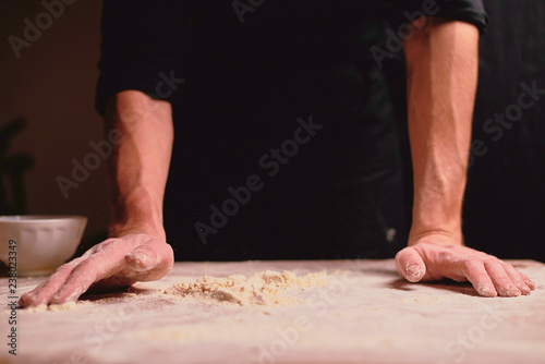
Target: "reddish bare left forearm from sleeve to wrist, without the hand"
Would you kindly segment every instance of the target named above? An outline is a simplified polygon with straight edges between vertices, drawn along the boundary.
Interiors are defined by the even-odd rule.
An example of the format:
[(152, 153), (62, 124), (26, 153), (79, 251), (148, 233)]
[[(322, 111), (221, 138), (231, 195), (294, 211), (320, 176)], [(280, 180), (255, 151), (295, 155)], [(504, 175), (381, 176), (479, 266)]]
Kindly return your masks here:
[(165, 240), (162, 199), (173, 142), (170, 104), (121, 92), (108, 105), (106, 124), (121, 135), (108, 161), (110, 236), (145, 232)]

